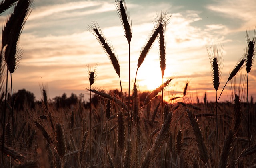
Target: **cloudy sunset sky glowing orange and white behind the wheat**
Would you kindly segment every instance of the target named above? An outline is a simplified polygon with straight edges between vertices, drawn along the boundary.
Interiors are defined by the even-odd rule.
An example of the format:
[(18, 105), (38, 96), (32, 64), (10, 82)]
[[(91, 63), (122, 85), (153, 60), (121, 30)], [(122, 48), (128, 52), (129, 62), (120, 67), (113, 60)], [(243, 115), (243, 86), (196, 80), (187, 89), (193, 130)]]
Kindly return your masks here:
[[(154, 19), (168, 12), (166, 27), (166, 70), (164, 80), (174, 77), (166, 96), (182, 96), (188, 82), (188, 99), (203, 101), (204, 93), (214, 101), (211, 65), (206, 47), (223, 47), (220, 94), (229, 73), (246, 50), (246, 31), (253, 35), (256, 26), (256, 1), (251, 0), (126, 0), (132, 19), (131, 88), (140, 51), (154, 29)], [(10, 11), (0, 16), (4, 27)], [(94, 87), (119, 89), (119, 78), (101, 45), (89, 31), (96, 21), (113, 45), (121, 66), (121, 81), (128, 92), (128, 43), (116, 12), (114, 0), (34, 0), (34, 6), (19, 46), (22, 60), (13, 74), (13, 90), (25, 88), (41, 100), (40, 86), (47, 86), (48, 97), (65, 92), (84, 94), (90, 87), (88, 66), (97, 65)], [(241, 74), (245, 74), (243, 68)], [(236, 81), (239, 81), (239, 75)], [(138, 69), (140, 91), (152, 90), (162, 83), (158, 41)], [(233, 82), (234, 83), (234, 82)], [(234, 84), (233, 84), (234, 85)], [(256, 96), (256, 68), (249, 74), (249, 96)], [(226, 86), (221, 99), (231, 100)]]

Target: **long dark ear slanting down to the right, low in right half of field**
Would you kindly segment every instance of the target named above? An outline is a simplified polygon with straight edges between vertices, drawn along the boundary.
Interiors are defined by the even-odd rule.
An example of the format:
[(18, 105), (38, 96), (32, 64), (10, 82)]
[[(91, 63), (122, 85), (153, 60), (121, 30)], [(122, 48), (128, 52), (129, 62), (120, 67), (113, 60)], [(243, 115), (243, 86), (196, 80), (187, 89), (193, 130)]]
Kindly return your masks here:
[(188, 115), (188, 120), (196, 137), (196, 145), (198, 147), (200, 159), (204, 162), (204, 164), (207, 164), (209, 159), (209, 153), (204, 142), (202, 130), (192, 112), (190, 110), (186, 111)]

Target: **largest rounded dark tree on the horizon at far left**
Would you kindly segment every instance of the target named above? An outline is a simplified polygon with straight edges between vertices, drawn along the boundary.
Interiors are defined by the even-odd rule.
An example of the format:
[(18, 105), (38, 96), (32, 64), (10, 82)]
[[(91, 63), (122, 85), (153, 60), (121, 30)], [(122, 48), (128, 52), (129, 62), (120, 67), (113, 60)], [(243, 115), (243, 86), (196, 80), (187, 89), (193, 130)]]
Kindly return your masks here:
[(35, 96), (33, 93), (22, 89), (13, 94), (14, 97), (14, 109), (24, 110), (25, 107), (35, 107)]

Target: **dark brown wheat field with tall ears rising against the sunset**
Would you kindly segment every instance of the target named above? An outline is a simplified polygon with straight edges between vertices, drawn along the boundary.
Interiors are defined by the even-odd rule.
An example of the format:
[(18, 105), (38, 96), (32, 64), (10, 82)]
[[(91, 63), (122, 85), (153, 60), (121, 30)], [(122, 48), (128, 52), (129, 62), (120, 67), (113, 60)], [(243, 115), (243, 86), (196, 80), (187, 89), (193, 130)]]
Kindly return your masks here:
[[(0, 4), (0, 12), (15, 2), (4, 1)], [(248, 78), (255, 55), (255, 33), (253, 37), (247, 33), (245, 54), (226, 80), (225, 86), (231, 83), (232, 100), (218, 102), (222, 93), (217, 94), (222, 71), (222, 46), (213, 45), (207, 51), (216, 102), (208, 102), (205, 94), (203, 102), (197, 98), (197, 103), (191, 103), (190, 95), (187, 94), (189, 83), (186, 83), (182, 97), (168, 101), (163, 99), (165, 89), (173, 82), (173, 78), (164, 81), (165, 29), (171, 17), (167, 12), (156, 16), (155, 27), (139, 55), (136, 72), (140, 70), (152, 44), (158, 41), (162, 85), (146, 93), (138, 90), (136, 78), (130, 82), (129, 72), (128, 94), (123, 94), (118, 58), (94, 21), (88, 29), (109, 57), (120, 80), (120, 91), (93, 87), (97, 80), (95, 65), (95, 68), (88, 67), (90, 86), (87, 86), (86, 92), (90, 94), (90, 102), (87, 104), (78, 98), (75, 102), (70, 101), (71, 98), (64, 101), (67, 100), (65, 96), (50, 101), (47, 87), (43, 85), (42, 100), (32, 102), (32, 105), (28, 95), (21, 101), (19, 95), (9, 93), (7, 89), (8, 74), (10, 72), (9, 77), (12, 79), (12, 73), (21, 58), (17, 43), (31, 4), (32, 0), (17, 0), (2, 33), (1, 167), (256, 167), (256, 105), (253, 98), (250, 102), (248, 98)], [(132, 31), (125, 0), (116, 0), (116, 8), (129, 45), (127, 55), (130, 70)], [(237, 74), (244, 68), (246, 75), (241, 75), (239, 82), (236, 82)]]

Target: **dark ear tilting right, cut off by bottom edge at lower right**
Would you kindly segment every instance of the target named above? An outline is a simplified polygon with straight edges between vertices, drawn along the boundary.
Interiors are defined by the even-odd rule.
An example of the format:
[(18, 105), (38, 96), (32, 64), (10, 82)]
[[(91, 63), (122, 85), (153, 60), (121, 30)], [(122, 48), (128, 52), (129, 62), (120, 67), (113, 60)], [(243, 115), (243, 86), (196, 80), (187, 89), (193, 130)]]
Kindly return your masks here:
[(230, 152), (232, 149), (234, 141), (234, 132), (230, 130), (225, 139), (225, 143), (223, 145), (222, 153), (220, 155), (219, 168), (227, 168), (228, 162), (230, 158)]

